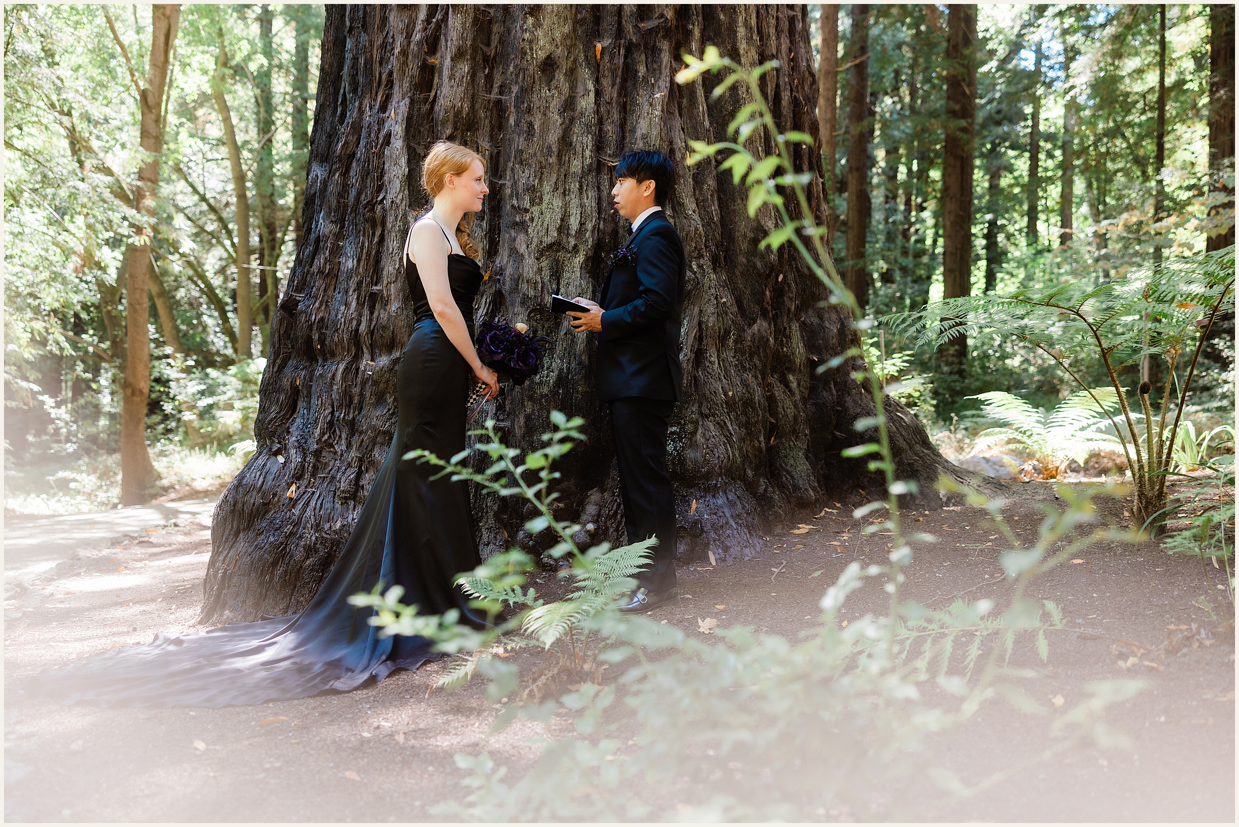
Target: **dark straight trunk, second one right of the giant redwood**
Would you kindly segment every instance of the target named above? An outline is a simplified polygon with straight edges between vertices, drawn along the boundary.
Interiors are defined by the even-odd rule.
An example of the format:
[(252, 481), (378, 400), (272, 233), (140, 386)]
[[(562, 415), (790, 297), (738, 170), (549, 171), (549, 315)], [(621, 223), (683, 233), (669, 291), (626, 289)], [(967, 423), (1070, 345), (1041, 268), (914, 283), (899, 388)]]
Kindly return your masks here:
[(847, 239), (843, 275), (847, 290), (865, 307), (869, 303), (865, 244), (871, 212), (869, 171), (872, 163), (869, 154), (872, 128), (869, 106), (869, 6), (854, 2), (851, 15), (851, 48), (847, 56), (851, 64), (851, 100), (847, 105)]

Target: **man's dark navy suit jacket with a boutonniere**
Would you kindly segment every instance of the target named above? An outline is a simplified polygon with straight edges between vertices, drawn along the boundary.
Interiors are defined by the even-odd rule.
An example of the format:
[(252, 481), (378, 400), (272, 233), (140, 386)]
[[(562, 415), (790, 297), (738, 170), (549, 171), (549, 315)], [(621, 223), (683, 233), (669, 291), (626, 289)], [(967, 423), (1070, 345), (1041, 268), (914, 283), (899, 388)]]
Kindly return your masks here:
[(628, 236), (634, 264), (616, 264), (602, 285), (598, 334), (598, 400), (624, 396), (680, 400), (680, 314), (684, 246), (658, 210)]

